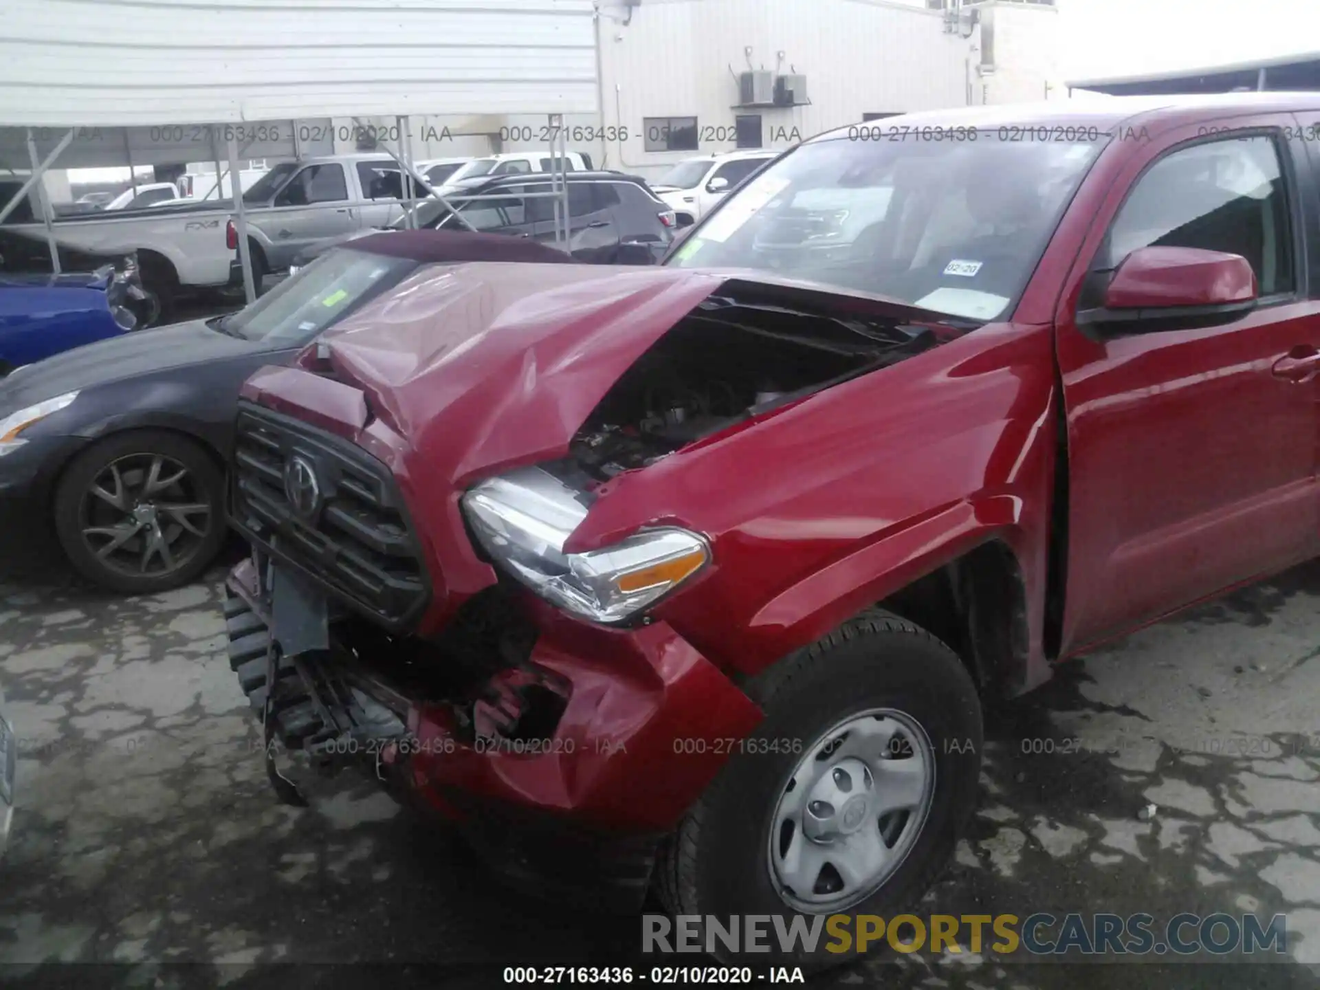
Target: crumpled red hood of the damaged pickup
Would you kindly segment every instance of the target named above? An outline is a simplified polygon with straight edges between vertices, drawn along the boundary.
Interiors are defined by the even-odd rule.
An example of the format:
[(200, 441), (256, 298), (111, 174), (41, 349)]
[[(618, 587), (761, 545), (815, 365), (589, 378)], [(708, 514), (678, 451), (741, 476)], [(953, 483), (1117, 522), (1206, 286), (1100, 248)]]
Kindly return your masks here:
[(322, 339), (338, 378), (461, 484), (565, 450), (627, 367), (722, 281), (470, 263), (420, 273)]

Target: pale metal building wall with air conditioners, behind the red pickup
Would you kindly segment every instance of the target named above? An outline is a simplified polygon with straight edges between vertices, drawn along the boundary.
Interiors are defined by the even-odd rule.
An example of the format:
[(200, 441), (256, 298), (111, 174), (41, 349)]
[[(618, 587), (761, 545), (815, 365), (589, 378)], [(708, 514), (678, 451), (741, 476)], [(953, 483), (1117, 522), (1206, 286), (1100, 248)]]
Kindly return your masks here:
[[(759, 114), (764, 145), (785, 148), (863, 114), (969, 102), (975, 36), (946, 33), (940, 12), (875, 0), (643, 0), (624, 26), (627, 9), (611, 4), (601, 22), (603, 120), (628, 129), (609, 149), (612, 168), (655, 173), (696, 153), (644, 152), (648, 117), (697, 116), (700, 152), (718, 153), (734, 149), (739, 114)], [(805, 75), (810, 106), (734, 108), (734, 77), (748, 61)]]

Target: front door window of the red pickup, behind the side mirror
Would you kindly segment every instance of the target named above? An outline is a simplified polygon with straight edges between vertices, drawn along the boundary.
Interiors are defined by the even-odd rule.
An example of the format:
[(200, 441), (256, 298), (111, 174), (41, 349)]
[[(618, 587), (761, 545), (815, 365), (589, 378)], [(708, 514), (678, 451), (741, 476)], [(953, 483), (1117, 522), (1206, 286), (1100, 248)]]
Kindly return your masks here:
[(1262, 297), (1292, 292), (1290, 211), (1274, 140), (1212, 141), (1156, 161), (1119, 210), (1096, 267), (1114, 269), (1140, 247), (1241, 255)]

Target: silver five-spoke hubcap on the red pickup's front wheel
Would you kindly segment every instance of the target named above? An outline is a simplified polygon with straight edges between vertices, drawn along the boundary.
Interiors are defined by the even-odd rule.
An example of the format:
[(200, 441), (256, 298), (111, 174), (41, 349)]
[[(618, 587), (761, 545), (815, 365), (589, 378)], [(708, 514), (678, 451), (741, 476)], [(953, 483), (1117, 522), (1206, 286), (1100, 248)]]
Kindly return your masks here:
[(871, 709), (822, 733), (784, 781), (771, 820), (779, 896), (809, 913), (866, 900), (912, 850), (933, 795), (935, 750), (911, 715)]

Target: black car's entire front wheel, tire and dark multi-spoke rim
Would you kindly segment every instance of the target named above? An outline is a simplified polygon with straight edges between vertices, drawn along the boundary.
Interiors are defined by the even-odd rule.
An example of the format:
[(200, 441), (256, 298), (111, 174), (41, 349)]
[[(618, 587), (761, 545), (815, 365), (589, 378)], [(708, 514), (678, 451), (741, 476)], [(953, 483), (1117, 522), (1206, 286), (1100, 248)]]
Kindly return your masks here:
[[(54, 524), (84, 578), (120, 594), (153, 594), (210, 566), (224, 543), (223, 511), (224, 474), (201, 445), (177, 433), (135, 430), (70, 462), (55, 487)], [(135, 557), (143, 566), (133, 566)]]

